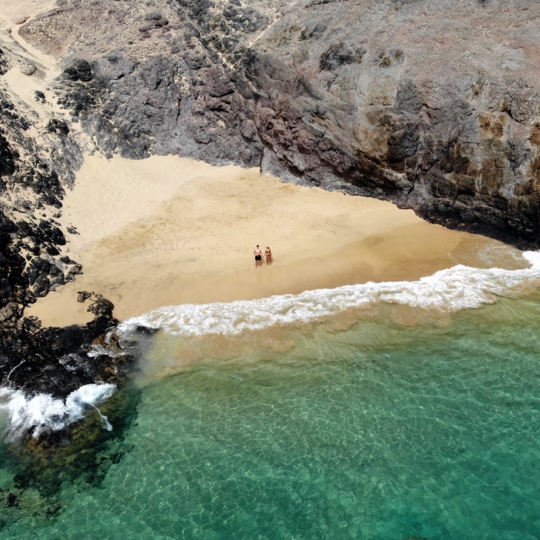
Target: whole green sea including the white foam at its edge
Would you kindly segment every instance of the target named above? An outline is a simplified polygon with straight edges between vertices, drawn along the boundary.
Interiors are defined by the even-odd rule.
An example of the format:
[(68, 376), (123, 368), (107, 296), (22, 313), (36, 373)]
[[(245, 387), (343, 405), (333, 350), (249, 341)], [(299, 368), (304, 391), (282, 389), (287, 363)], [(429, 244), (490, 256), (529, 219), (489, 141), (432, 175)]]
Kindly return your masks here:
[[(115, 459), (56, 478), (47, 511), (46, 487), (18, 488), (0, 538), (540, 538), (539, 293), (540, 253), (493, 244), (417, 281), (126, 320), (142, 352)], [(4, 389), (3, 492), (21, 429), (97, 408), (114, 433), (113, 392)]]

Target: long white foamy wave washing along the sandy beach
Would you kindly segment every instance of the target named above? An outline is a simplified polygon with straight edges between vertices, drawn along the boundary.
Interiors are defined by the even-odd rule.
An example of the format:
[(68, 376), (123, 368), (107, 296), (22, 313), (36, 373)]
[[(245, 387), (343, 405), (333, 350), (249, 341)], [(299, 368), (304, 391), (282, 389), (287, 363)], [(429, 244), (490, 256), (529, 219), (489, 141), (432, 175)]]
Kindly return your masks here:
[(540, 253), (524, 252), (523, 256), (530, 262), (529, 268), (480, 269), (457, 265), (418, 281), (369, 282), (260, 300), (168, 306), (127, 319), (119, 330), (129, 334), (137, 326), (146, 326), (185, 336), (238, 334), (271, 325), (309, 322), (383, 302), (452, 313), (494, 303), (497, 297), (530, 294), (531, 289), (539, 288)]

